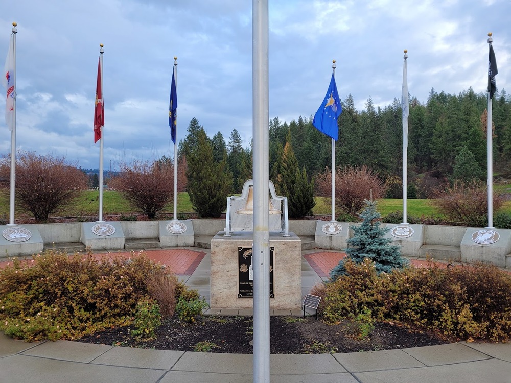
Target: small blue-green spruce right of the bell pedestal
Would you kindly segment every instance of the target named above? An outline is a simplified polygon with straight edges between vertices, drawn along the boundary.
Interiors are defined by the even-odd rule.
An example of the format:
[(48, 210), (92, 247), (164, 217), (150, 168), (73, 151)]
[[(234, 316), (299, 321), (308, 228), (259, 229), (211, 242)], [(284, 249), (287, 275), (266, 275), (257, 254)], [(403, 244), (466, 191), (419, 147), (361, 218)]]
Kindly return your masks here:
[[(363, 222), (350, 226), (354, 235), (346, 240), (346, 243), (353, 247), (345, 249), (346, 258), (352, 259), (356, 264), (369, 258), (374, 262), (377, 273), (390, 273), (392, 269), (406, 266), (408, 261), (401, 256), (400, 246), (391, 245), (392, 239), (384, 238), (390, 229), (380, 227), (381, 214), (376, 210), (376, 201), (365, 200), (364, 211), (358, 216)], [(346, 275), (344, 259), (332, 269), (330, 279), (334, 281), (341, 275)]]

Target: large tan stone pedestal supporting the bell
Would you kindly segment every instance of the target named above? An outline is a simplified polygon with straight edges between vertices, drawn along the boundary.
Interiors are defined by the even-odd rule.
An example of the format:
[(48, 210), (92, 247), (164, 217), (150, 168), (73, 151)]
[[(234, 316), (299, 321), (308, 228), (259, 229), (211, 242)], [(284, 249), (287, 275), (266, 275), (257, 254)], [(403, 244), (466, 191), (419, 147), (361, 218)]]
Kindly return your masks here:
[[(253, 232), (217, 233), (211, 240), (210, 306), (212, 309), (253, 308), (248, 282)], [(270, 232), (270, 309), (301, 309), (301, 240)], [(252, 290), (253, 291), (253, 290)]]

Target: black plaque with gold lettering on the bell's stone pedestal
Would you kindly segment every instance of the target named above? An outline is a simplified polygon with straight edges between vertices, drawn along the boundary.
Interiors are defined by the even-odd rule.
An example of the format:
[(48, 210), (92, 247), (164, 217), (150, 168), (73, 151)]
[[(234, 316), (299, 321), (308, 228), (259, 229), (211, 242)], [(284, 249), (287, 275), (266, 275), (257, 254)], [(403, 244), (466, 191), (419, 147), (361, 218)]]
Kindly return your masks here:
[[(275, 246), (270, 246), (270, 298), (273, 294), (273, 253)], [(252, 268), (252, 248), (238, 246), (238, 298), (253, 298), (254, 277)]]

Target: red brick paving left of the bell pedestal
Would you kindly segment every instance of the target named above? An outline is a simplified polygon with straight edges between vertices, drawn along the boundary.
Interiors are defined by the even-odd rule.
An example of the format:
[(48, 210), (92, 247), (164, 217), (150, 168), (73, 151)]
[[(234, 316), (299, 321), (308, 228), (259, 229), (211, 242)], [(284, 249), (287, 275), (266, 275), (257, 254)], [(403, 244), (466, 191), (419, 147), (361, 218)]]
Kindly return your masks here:
[[(119, 252), (105, 252), (96, 253), (94, 257), (99, 259), (101, 257), (121, 256), (123, 258), (129, 258), (139, 252), (119, 251)], [(167, 250), (144, 250), (140, 253), (145, 253), (149, 259), (161, 265), (169, 267), (177, 275), (192, 275), (194, 270), (200, 264), (200, 261), (206, 253), (203, 251), (195, 251), (188, 249), (167, 249)], [(30, 260), (28, 260), (30, 264)], [(0, 262), (0, 268), (7, 266), (9, 262)]]

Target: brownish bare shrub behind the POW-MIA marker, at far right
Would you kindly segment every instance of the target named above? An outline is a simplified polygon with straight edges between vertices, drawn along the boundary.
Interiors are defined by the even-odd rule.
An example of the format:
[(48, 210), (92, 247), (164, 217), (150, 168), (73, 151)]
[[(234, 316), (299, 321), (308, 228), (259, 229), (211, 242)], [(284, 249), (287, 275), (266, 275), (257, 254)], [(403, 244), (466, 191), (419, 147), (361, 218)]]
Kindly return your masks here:
[[(456, 181), (452, 186), (437, 188), (434, 197), (432, 204), (449, 220), (474, 227), (486, 225), (488, 189), (484, 183)], [(493, 210), (498, 211), (504, 201), (504, 196), (495, 191), (493, 193)]]

